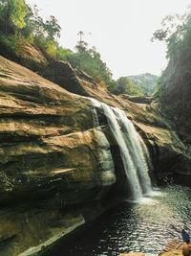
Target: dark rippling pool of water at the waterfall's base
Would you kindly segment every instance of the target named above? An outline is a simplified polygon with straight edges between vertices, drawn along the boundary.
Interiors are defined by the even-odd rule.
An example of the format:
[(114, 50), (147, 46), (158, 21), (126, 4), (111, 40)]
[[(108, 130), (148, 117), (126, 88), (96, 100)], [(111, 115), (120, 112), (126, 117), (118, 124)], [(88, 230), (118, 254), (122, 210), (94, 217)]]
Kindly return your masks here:
[(180, 230), (191, 230), (191, 189), (170, 185), (138, 202), (124, 201), (49, 256), (158, 254)]

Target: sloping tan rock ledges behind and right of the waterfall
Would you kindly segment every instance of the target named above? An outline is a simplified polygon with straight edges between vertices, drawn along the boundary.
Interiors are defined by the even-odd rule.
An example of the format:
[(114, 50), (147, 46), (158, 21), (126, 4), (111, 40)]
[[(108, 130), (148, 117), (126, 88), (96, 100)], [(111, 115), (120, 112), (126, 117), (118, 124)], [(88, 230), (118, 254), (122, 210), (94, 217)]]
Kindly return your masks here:
[[(179, 130), (162, 112), (159, 99), (112, 95), (83, 72), (74, 71), (67, 63), (61, 61), (58, 63), (59, 80), (53, 77), (53, 81), (58, 84), (60, 81), (64, 81), (60, 85), (68, 90), (68, 86), (65, 84), (68, 84), (69, 81), (61, 80), (61, 76), (64, 74), (64, 70), (70, 69), (71, 77), (78, 81), (77, 85), (73, 87), (74, 93), (80, 94), (78, 88), (83, 87), (85, 93), (83, 92), (82, 95), (88, 95), (107, 105), (117, 106), (126, 112), (150, 147), (153, 158), (155, 158), (154, 165), (157, 172), (179, 172), (191, 175), (189, 145), (185, 146), (180, 140)], [(52, 73), (54, 72), (52, 69)], [(45, 73), (44, 75), (46, 76)]]

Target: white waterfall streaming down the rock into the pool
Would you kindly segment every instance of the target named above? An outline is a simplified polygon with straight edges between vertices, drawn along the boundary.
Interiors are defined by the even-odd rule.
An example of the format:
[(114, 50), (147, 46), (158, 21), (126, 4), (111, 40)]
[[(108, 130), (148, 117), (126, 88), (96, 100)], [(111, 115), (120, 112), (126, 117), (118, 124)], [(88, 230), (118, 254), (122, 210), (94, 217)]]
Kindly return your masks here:
[[(133, 199), (137, 200), (151, 193), (152, 186), (147, 164), (149, 154), (134, 125), (119, 108), (99, 103), (95, 99), (90, 100), (95, 106), (94, 113), (96, 114), (96, 107), (98, 107), (106, 116), (108, 125), (117, 140)], [(98, 122), (97, 115), (96, 122)]]

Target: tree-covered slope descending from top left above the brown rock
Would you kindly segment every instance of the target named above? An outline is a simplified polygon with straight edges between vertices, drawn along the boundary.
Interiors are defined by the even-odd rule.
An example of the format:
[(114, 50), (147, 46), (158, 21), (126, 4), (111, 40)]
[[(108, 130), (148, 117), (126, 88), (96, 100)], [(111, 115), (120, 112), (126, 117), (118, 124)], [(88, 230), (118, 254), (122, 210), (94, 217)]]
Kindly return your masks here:
[(79, 41), (76, 42), (74, 51), (58, 44), (60, 33), (61, 27), (53, 15), (45, 20), (39, 15), (36, 6), (28, 6), (24, 0), (0, 0), (0, 55), (19, 62), (38, 74), (42, 74), (41, 69), (47, 63), (66, 61), (74, 69), (83, 70), (111, 93), (145, 94), (147, 84), (140, 88), (127, 77), (115, 81), (96, 47), (90, 47), (83, 40), (82, 31), (78, 33)]

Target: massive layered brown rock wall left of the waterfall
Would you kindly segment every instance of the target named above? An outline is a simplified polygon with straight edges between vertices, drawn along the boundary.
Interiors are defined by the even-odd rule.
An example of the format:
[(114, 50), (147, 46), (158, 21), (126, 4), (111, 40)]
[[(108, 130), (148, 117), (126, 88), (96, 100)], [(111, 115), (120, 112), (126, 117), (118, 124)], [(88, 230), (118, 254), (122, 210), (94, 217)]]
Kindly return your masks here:
[(5, 58), (0, 117), (0, 254), (36, 255), (89, 218), (85, 205), (93, 218), (108, 207), (96, 201), (117, 179), (110, 144), (89, 99)]

